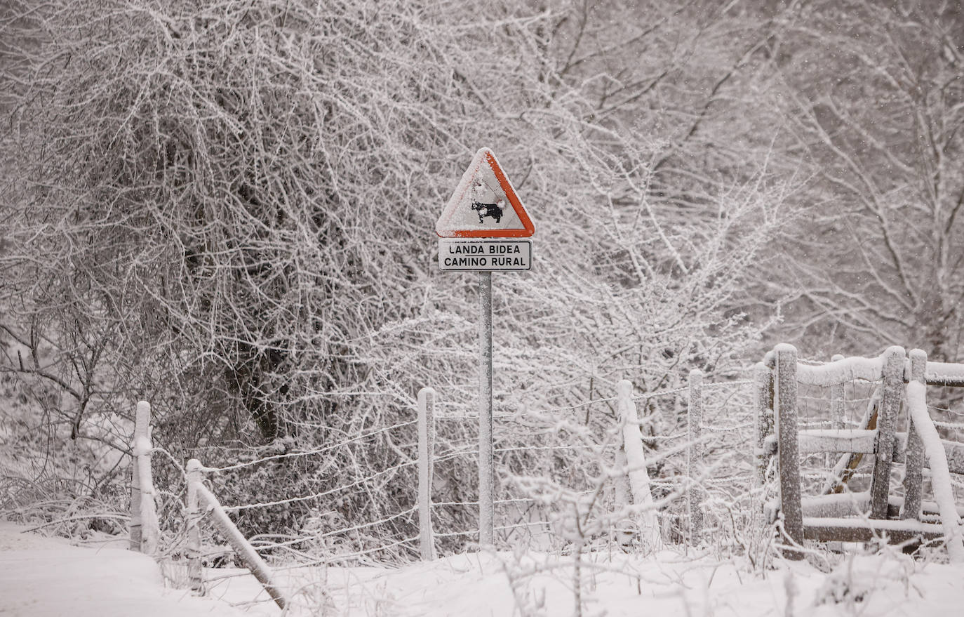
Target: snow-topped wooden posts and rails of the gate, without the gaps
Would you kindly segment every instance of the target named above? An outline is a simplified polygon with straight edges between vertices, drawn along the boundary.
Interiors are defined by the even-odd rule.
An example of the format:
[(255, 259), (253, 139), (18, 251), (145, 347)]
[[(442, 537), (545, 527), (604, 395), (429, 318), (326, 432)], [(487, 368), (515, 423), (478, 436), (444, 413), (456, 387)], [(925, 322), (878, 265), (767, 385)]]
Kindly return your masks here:
[[(879, 382), (879, 394), (870, 398), (868, 412), (857, 429), (797, 430), (796, 385), (831, 388), (843, 398), (839, 387), (853, 381)], [(890, 347), (877, 358), (841, 358), (814, 365), (798, 362), (792, 345), (777, 345), (756, 369), (757, 477), (765, 483), (767, 469), (776, 462), (780, 493), (769, 502), (780, 508), (789, 544), (799, 547), (804, 539), (867, 541), (886, 534), (892, 542), (912, 538), (944, 539), (951, 559), (964, 561), (961, 537), (962, 509), (954, 503), (951, 471), (964, 473), (964, 444), (942, 441), (926, 407), (926, 385), (964, 387), (964, 364), (927, 362), (921, 350), (909, 358), (901, 347)], [(907, 433), (895, 428), (906, 398)], [(842, 416), (836, 406), (835, 418)], [(775, 446), (775, 447), (774, 447)], [(837, 478), (823, 496), (800, 495), (801, 454), (844, 452), (833, 470)], [(859, 456), (872, 454), (870, 490), (839, 494)], [(905, 497), (890, 495), (891, 466), (903, 464)], [(935, 501), (923, 502), (922, 471), (930, 469)], [(939, 512), (941, 524), (924, 523), (924, 513)], [(888, 520), (899, 516), (900, 520)], [(849, 517), (849, 518), (848, 518)], [(791, 558), (802, 557), (795, 549)]]

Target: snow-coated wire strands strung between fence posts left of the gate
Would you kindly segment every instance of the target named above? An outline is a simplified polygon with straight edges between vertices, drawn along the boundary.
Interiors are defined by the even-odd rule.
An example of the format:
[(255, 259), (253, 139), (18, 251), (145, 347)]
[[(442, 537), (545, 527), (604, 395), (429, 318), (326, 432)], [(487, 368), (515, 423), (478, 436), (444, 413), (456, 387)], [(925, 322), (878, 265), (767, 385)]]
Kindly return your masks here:
[[(688, 537), (690, 509), (681, 497), (690, 489), (700, 489), (711, 513), (712, 504), (739, 499), (752, 485), (754, 462), (747, 447), (754, 426), (752, 384), (703, 384), (697, 433), (704, 461), (695, 471), (687, 416), (692, 389), (632, 393), (664, 541)], [(626, 496), (619, 494), (619, 473), (613, 475), (623, 447), (618, 402), (615, 396), (597, 395), (575, 404), (496, 410), (497, 549), (560, 549), (568, 542), (560, 533), (571, 514), (567, 504), (602, 513), (619, 509)], [(224, 450), (199, 452), (207, 459), (200, 469), (204, 485), (275, 569), (414, 560), (420, 542), (418, 418), (413, 405), (399, 410), (400, 421), (358, 426), (336, 443), (307, 448), (274, 444), (234, 461)], [(445, 555), (479, 540), (478, 416), (465, 404), (440, 397), (435, 419), (431, 519), (437, 530), (433, 541)], [(167, 450), (153, 448), (152, 454), (155, 465), (171, 468), (158, 474), (168, 483), (157, 492), (159, 518), (166, 522), (163, 554), (181, 560), (190, 552), (186, 471)], [(210, 508), (200, 513), (201, 560), (207, 566), (229, 564), (224, 539), (205, 523), (208, 512)], [(287, 524), (265, 524), (278, 521)], [(714, 524), (711, 516), (709, 524)], [(209, 577), (209, 582), (217, 578)]]

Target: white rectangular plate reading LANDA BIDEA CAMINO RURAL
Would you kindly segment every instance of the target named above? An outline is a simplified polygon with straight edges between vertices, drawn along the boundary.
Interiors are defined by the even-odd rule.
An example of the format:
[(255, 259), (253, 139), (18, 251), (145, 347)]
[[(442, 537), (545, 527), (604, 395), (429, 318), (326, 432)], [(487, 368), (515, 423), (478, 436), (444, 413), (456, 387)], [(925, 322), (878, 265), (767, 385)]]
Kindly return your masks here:
[(495, 238), (440, 238), (442, 270), (511, 272), (532, 269), (532, 241)]

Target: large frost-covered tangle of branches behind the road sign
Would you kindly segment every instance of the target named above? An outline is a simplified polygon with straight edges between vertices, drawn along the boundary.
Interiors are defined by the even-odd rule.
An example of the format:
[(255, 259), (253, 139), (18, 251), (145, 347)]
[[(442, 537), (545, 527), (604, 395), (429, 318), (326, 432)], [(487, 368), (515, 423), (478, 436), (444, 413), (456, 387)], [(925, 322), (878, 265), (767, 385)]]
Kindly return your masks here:
[[(618, 2), (13, 3), (3, 370), (56, 392), (58, 431), (120, 449), (103, 425), (142, 397), (175, 449), (337, 441), (425, 385), (468, 404), (474, 279), (437, 271), (432, 229), (489, 146), (537, 227), (533, 272), (496, 278), (501, 404), (726, 374), (760, 329), (739, 308), (783, 189), (766, 148), (738, 173), (692, 158), (719, 88), (653, 98), (712, 83), (687, 59), (730, 19), (672, 5), (651, 27)], [(688, 128), (655, 138), (671, 115)]]

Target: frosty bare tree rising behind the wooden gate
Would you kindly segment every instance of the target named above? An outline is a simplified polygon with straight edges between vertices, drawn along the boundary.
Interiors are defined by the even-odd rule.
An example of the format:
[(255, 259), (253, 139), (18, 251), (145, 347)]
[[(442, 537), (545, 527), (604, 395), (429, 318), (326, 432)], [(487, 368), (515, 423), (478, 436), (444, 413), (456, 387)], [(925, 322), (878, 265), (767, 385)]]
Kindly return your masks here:
[(959, 3), (811, 2), (770, 45), (808, 178), (770, 294), (805, 349), (964, 358), (961, 33)]

